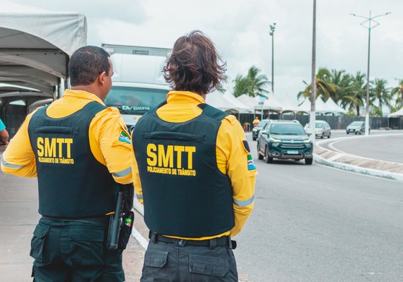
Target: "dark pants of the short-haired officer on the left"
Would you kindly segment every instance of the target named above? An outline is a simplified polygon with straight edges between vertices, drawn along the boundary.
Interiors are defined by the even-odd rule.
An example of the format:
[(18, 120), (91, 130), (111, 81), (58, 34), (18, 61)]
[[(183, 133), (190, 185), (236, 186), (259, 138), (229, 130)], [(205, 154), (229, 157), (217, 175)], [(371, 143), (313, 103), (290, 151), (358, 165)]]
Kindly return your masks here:
[(40, 219), (31, 241), (34, 282), (122, 282), (122, 251), (106, 248), (107, 218)]

